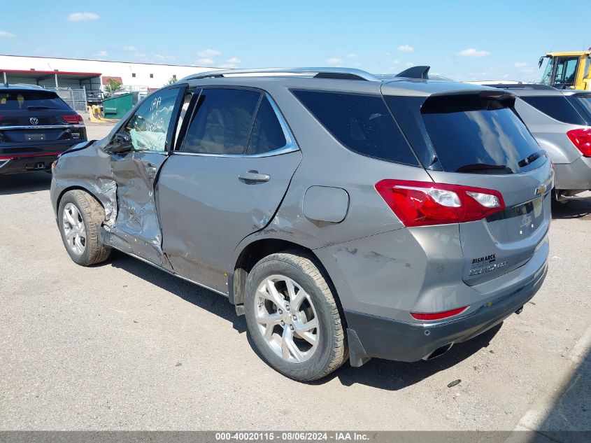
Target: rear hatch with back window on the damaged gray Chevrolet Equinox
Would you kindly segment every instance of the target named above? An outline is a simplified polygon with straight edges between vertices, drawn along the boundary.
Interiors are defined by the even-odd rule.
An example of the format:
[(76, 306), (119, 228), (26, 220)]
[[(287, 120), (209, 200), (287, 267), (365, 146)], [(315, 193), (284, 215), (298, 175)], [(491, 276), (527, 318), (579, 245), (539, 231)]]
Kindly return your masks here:
[[(462, 192), (468, 204), (475, 202), (464, 192), (493, 199), (483, 200), (494, 206), (485, 218), (458, 223), (462, 279), (476, 285), (524, 265), (548, 232), (553, 171), (513, 111), (515, 98), (468, 90), (421, 100), (420, 116), (414, 120), (432, 156), (418, 155), (430, 158), (425, 167), (433, 181), (455, 185), (450, 189)], [(394, 108), (389, 97), (386, 101)]]

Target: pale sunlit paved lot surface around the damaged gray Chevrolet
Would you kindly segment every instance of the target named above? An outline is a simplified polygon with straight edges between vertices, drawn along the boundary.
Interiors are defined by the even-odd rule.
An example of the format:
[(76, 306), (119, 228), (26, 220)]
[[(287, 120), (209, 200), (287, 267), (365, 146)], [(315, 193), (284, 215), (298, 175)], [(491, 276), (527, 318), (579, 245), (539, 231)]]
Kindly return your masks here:
[(436, 360), (298, 384), (257, 357), (225, 298), (122, 254), (71, 262), (49, 185), (0, 176), (1, 429), (591, 428), (591, 202), (557, 208), (548, 278), (521, 315)]

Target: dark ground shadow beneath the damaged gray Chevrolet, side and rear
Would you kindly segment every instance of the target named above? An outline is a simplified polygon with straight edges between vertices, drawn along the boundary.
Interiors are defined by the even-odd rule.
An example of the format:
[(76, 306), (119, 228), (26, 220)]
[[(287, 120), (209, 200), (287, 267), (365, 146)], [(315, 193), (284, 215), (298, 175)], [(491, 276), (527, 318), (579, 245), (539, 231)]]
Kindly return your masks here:
[[(244, 316), (237, 316), (236, 311), (234, 311), (234, 306), (232, 306), (225, 297), (218, 293), (214, 293), (206, 288), (201, 288), (201, 286), (197, 286), (194, 283), (190, 283), (168, 274), (167, 272), (148, 265), (148, 263), (129, 257), (118, 251), (113, 251), (112, 258), (109, 260), (108, 265), (134, 274), (140, 279), (149, 281), (155, 286), (158, 286), (201, 309), (211, 312), (211, 314), (224, 318), (229, 321), (229, 323), (232, 323), (234, 330), (239, 333), (246, 332)], [(502, 323), (468, 342), (453, 346), (453, 348), (444, 356), (441, 356), (441, 358), (435, 358), (434, 360), (429, 361), (421, 360), (415, 363), (402, 363), (374, 358), (369, 360), (369, 362), (362, 367), (351, 367), (347, 361), (333, 374), (311, 384), (322, 385), (336, 377), (341, 384), (346, 386), (364, 384), (366, 386), (372, 386), (387, 391), (397, 391), (431, 377), (439, 371), (446, 370), (460, 361), (465, 360), (473, 353), (480, 351), (480, 349), (486, 348), (494, 335), (499, 332), (501, 325)], [(247, 337), (247, 340), (252, 350), (260, 358), (261, 355), (255, 348), (255, 344), (252, 342), (250, 336)]]

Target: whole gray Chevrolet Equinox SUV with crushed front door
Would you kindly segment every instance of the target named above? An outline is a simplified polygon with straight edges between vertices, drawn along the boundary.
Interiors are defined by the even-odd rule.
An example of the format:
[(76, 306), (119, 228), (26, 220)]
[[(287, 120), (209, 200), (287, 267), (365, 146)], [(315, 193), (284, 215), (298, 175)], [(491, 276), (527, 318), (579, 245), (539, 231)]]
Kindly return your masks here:
[(553, 169), (514, 103), (427, 66), (200, 73), (61, 155), (52, 205), (74, 262), (225, 295), (287, 377), (434, 358), (546, 276)]

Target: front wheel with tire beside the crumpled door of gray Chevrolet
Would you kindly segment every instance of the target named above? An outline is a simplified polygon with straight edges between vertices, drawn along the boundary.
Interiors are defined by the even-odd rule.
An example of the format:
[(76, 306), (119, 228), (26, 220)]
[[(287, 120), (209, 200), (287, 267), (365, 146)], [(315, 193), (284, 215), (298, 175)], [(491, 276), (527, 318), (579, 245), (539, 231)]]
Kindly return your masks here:
[(59, 202), (58, 223), (70, 258), (82, 266), (104, 262), (111, 248), (101, 244), (99, 230), (105, 220), (103, 206), (82, 190), (66, 192)]

